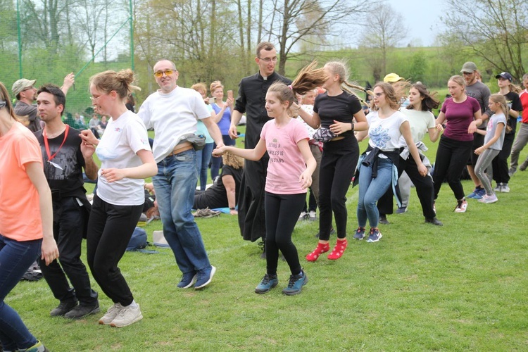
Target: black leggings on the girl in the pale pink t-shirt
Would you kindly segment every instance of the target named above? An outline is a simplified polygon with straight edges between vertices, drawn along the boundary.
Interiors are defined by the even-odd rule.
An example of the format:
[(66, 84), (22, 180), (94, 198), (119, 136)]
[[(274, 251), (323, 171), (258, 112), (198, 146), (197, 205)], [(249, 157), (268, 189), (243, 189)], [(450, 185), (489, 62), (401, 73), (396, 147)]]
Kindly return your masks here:
[(297, 249), (291, 241), (298, 215), (303, 210), (306, 193), (273, 194), (265, 192), (266, 214), (266, 270), (269, 275), (277, 274), (279, 249), (289, 265), (291, 275), (301, 272)]

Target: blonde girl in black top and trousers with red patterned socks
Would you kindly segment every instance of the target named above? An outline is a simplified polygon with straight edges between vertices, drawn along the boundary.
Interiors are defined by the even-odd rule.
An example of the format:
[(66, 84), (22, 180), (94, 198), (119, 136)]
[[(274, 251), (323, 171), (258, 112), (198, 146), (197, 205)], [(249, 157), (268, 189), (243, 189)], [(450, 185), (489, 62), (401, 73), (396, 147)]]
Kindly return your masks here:
[(314, 139), (323, 142), (319, 170), (319, 242), (315, 250), (306, 256), (306, 260), (312, 262), (330, 249), (332, 213), (336, 221), (337, 244), (327, 258), (337, 260), (346, 249), (346, 192), (359, 158), (354, 131), (368, 128), (360, 100), (347, 87), (363, 88), (346, 81), (343, 63), (329, 62), (325, 65), (325, 72), (328, 79), (322, 87), (327, 92), (315, 98), (313, 115), (302, 109), (299, 111), (299, 116), (310, 127), (319, 129)]

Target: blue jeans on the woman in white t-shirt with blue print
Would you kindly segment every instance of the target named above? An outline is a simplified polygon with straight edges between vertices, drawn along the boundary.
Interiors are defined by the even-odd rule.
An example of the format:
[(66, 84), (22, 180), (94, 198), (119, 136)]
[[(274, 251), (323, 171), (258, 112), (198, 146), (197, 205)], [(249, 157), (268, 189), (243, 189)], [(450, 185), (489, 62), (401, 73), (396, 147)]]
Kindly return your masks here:
[(372, 178), (372, 166), (361, 165), (359, 172), (358, 225), (365, 227), (367, 219), (370, 227), (376, 228), (379, 212), (376, 203), (383, 196), (392, 182), (392, 162), (390, 159), (378, 158), (377, 177)]

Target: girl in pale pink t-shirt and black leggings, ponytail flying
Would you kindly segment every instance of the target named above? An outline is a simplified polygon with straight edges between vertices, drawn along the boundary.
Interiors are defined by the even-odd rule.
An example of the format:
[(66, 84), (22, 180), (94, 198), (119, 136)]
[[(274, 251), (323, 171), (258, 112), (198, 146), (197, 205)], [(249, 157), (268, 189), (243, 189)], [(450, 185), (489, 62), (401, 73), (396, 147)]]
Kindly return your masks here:
[[(266, 151), (270, 156), (265, 185), (266, 274), (255, 289), (257, 294), (270, 291), (279, 282), (279, 249), (291, 271), (288, 286), (282, 293), (299, 294), (303, 285), (308, 282), (308, 277), (299, 263), (297, 249), (291, 241), (291, 232), (294, 231), (298, 216), (303, 210), (306, 189), (312, 184), (316, 165), (308, 145), (306, 128), (291, 117), (295, 87), (303, 75), (299, 77), (301, 79), (298, 78), (291, 86), (276, 82), (268, 89), (265, 108), (268, 116), (274, 120), (265, 123), (255, 149), (222, 146), (213, 151), (213, 155), (217, 156), (230, 151), (251, 161), (258, 161)], [(315, 87), (306, 87), (305, 92)]]

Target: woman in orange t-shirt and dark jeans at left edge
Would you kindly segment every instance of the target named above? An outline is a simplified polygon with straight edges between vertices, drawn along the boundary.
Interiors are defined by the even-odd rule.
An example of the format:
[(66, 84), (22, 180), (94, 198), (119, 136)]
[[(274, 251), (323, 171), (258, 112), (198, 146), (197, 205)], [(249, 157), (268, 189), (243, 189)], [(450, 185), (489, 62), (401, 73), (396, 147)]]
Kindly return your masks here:
[(51, 191), (42, 168), (39, 142), (18, 122), (7, 89), (0, 83), (0, 349), (3, 351), (48, 351), (4, 299), (39, 253), (46, 265), (58, 258), (51, 209)]

